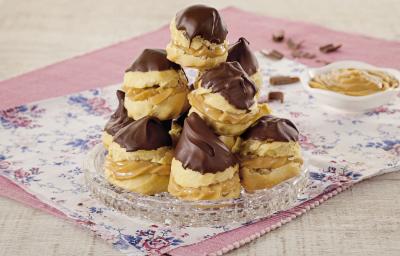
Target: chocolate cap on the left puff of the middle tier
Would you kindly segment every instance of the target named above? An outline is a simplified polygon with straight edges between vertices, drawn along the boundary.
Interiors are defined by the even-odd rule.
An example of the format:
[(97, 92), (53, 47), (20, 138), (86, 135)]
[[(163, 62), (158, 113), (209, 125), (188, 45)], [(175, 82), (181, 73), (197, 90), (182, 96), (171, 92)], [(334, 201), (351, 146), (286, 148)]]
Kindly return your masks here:
[(163, 71), (181, 69), (176, 63), (167, 59), (167, 52), (163, 49), (144, 49), (142, 54), (133, 62), (133, 64), (125, 71)]

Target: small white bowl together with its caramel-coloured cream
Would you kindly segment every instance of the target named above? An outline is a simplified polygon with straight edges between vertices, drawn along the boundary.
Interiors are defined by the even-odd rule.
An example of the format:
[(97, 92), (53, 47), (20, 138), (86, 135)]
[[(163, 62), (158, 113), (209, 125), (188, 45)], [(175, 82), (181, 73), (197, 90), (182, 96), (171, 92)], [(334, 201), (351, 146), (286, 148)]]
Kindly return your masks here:
[(367, 111), (400, 95), (400, 71), (359, 61), (338, 61), (301, 75), (315, 100), (347, 112)]

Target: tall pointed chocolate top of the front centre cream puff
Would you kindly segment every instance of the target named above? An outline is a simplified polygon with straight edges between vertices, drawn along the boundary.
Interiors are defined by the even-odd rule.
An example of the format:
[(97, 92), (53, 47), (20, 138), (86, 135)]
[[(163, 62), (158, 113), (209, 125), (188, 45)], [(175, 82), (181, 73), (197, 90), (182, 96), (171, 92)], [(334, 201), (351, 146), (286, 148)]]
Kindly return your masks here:
[(236, 157), (196, 113), (185, 120), (175, 158), (184, 168), (202, 174), (221, 172), (237, 163)]

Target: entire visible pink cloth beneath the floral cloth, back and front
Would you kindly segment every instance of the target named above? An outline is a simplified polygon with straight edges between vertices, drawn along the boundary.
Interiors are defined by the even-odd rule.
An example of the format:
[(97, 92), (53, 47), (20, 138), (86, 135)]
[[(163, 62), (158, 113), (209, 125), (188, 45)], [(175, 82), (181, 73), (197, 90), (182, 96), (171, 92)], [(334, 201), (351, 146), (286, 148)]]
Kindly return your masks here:
[[(303, 22), (259, 16), (232, 7), (222, 10), (222, 15), (229, 27), (229, 40), (234, 42), (240, 36), (244, 36), (251, 42), (254, 50), (277, 49), (290, 57), (289, 51), (283, 43), (278, 44), (271, 41), (273, 31), (284, 29), (286, 35), (294, 41), (305, 40), (304, 50), (316, 53), (319, 59), (330, 62), (351, 59), (379, 66), (400, 68), (399, 42), (333, 31)], [(121, 82), (123, 71), (132, 62), (134, 56), (145, 47), (163, 48), (168, 39), (168, 28), (164, 26), (143, 36), (2, 81), (0, 82), (0, 109)], [(318, 47), (326, 43), (341, 43), (343, 47), (335, 53), (327, 55), (319, 53)], [(316, 63), (315, 60), (300, 59), (300, 61), (311, 66), (322, 65)], [(63, 213), (40, 202), (35, 196), (1, 176), (0, 195), (65, 218)], [(247, 227), (220, 234), (198, 244), (175, 249), (170, 253), (173, 255), (204, 255), (222, 250), (227, 245), (229, 246), (222, 251), (233, 249), (248, 242), (248, 239), (243, 240), (244, 238), (268, 232), (274, 226), (281, 225), (283, 219), (293, 218), (332, 195), (321, 195), (292, 209), (292, 214), (285, 212)], [(193, 254), (194, 252), (196, 254)]]

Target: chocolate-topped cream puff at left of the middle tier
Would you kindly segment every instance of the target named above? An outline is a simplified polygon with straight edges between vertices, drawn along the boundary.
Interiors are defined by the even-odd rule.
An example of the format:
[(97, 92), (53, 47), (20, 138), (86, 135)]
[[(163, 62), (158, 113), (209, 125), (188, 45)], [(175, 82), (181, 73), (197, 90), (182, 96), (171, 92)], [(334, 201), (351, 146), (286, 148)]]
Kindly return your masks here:
[(187, 110), (187, 78), (182, 68), (166, 56), (165, 50), (145, 49), (126, 70), (122, 88), (131, 118), (154, 116), (166, 120)]

